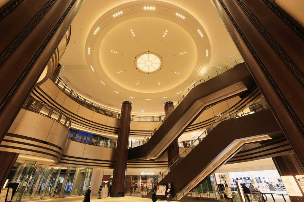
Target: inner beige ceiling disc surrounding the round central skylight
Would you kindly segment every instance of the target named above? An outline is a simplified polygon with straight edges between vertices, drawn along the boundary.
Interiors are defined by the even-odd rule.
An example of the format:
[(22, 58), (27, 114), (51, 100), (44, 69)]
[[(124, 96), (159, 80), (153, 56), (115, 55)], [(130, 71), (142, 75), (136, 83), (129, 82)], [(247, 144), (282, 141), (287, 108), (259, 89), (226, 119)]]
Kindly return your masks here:
[[(148, 51), (163, 60), (161, 70), (154, 74), (137, 71), (134, 65), (135, 57)], [(136, 92), (154, 93), (185, 81), (195, 67), (197, 50), (191, 36), (177, 24), (141, 17), (112, 28), (102, 40), (99, 58), (106, 75), (116, 84)]]

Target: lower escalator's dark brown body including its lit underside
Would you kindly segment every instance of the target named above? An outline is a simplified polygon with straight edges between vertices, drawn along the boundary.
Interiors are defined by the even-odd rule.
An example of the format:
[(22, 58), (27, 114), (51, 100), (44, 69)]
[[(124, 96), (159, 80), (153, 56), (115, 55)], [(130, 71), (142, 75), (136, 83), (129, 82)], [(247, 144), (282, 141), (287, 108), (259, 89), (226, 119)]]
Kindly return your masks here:
[[(215, 120), (208, 135), (198, 139), (190, 151), (186, 150), (174, 158), (171, 166), (162, 172), (157, 185), (171, 183), (174, 200), (180, 200), (184, 193), (193, 190), (245, 144), (270, 140), (281, 132), (271, 110), (263, 108), (247, 114), (234, 119), (222, 117)], [(150, 195), (151, 193), (145, 197), (150, 198)]]

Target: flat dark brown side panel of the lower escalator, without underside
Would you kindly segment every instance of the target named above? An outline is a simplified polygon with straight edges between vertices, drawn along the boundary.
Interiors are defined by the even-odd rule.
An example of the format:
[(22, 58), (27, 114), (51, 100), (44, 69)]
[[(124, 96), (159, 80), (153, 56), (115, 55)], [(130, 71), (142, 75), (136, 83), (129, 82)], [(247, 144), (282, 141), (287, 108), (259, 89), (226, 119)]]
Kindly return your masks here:
[[(215, 164), (214, 159), (236, 139), (261, 136), (281, 131), (271, 110), (264, 110), (241, 118), (219, 123), (193, 150), (177, 164), (158, 185), (172, 183), (172, 195), (186, 187), (201, 172)], [(237, 151), (235, 151), (237, 152)], [(230, 157), (220, 165), (223, 165)], [(214, 168), (214, 172), (218, 167)], [(208, 177), (209, 174), (206, 174)], [(199, 182), (198, 182), (199, 183)]]

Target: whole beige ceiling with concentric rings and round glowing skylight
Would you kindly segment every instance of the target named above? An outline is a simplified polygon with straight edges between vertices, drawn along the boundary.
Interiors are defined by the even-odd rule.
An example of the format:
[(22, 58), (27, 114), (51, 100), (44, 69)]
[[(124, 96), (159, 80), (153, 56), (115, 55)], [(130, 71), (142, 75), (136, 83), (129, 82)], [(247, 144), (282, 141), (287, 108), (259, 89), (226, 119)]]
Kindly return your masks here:
[[(209, 36), (194, 16), (175, 5), (135, 1), (114, 6), (116, 3), (86, 1), (81, 7), (85, 11), (79, 11), (71, 25), (60, 78), (104, 108), (120, 112), (121, 101), (129, 100), (134, 115), (162, 115), (164, 102), (178, 101), (180, 92), (209, 67)], [(148, 4), (155, 9), (147, 10)], [(98, 5), (111, 9), (99, 12)], [(222, 25), (218, 17), (216, 20), (213, 25)], [(232, 40), (224, 39), (213, 38), (214, 49), (219, 54), (228, 45), (232, 51), (215, 58), (237, 54)]]

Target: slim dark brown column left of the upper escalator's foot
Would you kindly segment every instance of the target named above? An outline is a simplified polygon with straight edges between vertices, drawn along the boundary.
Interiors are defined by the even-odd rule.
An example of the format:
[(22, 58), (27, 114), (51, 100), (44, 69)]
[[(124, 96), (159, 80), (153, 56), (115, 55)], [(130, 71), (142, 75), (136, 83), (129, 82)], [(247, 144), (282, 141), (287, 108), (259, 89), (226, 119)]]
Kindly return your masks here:
[(123, 105), (121, 106), (120, 124), (118, 130), (110, 197), (125, 196), (131, 109), (132, 103), (130, 101), (124, 101)]

